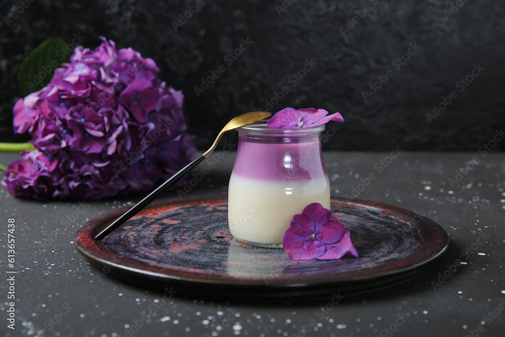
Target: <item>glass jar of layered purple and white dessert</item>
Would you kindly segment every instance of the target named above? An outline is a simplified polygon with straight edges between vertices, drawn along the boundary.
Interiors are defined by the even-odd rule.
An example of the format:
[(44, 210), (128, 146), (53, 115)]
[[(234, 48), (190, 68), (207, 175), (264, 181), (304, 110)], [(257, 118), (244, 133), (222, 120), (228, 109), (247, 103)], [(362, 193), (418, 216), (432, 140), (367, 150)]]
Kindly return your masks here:
[(269, 129), (265, 121), (238, 128), (228, 188), (228, 223), (247, 245), (282, 248), (293, 215), (312, 203), (330, 208), (321, 152), (324, 125)]

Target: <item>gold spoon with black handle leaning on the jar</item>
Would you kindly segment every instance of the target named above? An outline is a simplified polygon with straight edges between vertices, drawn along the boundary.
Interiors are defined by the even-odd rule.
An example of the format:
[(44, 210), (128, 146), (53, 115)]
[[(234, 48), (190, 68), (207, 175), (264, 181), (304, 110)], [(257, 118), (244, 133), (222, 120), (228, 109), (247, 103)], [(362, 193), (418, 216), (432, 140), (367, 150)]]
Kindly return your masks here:
[(101, 240), (107, 235), (109, 235), (114, 229), (118, 228), (121, 226), (123, 223), (128, 221), (132, 216), (140, 212), (145, 206), (147, 206), (151, 201), (155, 200), (160, 194), (162, 194), (165, 190), (167, 190), (169, 187), (171, 187), (173, 184), (175, 184), (177, 181), (179, 181), (183, 176), (185, 176), (189, 171), (191, 171), (196, 165), (198, 165), (201, 161), (203, 161), (205, 158), (207, 158), (218, 146), (219, 140), (221, 139), (221, 136), (223, 133), (226, 131), (230, 131), (233, 129), (236, 129), (241, 126), (249, 125), (254, 122), (261, 121), (264, 118), (267, 118), (270, 116), (271, 113), (269, 112), (263, 112), (263, 111), (254, 111), (254, 112), (247, 112), (245, 114), (242, 114), (240, 116), (237, 116), (233, 118), (231, 121), (228, 122), (228, 124), (225, 125), (225, 127), (219, 132), (216, 140), (214, 141), (214, 144), (212, 147), (207, 150), (206, 153), (201, 155), (200, 157), (196, 158), (193, 160), (191, 163), (186, 165), (182, 170), (177, 172), (175, 175), (173, 175), (170, 179), (165, 181), (160, 187), (152, 191), (147, 197), (142, 199), (140, 202), (138, 202), (135, 206), (130, 208), (125, 214), (120, 216), (119, 218), (116, 219), (113, 223), (111, 223), (107, 228), (102, 230), (98, 235), (95, 236), (96, 240)]

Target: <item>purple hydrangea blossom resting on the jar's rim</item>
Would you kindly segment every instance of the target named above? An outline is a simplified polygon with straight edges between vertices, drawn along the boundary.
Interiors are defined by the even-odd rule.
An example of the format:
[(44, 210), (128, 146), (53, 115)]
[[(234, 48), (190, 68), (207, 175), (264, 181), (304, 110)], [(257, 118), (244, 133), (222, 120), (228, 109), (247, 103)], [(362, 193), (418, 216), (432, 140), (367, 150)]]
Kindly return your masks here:
[(300, 109), (286, 108), (276, 113), (267, 122), (271, 129), (299, 129), (326, 124), (329, 121), (343, 122), (344, 119), (337, 112), (328, 115), (324, 109)]

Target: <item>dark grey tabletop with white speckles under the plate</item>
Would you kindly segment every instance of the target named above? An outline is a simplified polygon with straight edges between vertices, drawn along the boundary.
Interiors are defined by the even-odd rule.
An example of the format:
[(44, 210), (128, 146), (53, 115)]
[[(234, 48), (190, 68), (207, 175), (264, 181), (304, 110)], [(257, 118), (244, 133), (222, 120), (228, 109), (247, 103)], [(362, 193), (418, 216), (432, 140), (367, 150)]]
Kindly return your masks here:
[[(88, 220), (133, 204), (141, 196), (43, 203), (15, 199), (0, 187), (0, 334), (337, 337), (426, 336), (430, 331), (437, 336), (501, 336), (505, 329), (505, 154), (403, 152), (395, 159), (388, 155), (325, 153), (332, 196), (361, 189), (360, 199), (427, 216), (448, 232), (449, 248), (410, 281), (371, 293), (305, 302), (251, 303), (180, 292), (171, 297), (135, 287), (90, 265), (76, 252), (73, 237)], [(479, 164), (456, 177), (455, 170), (474, 156)], [(16, 157), (0, 155), (0, 163)], [(190, 194), (226, 194), (233, 162), (233, 154), (224, 155)], [(363, 189), (360, 178), (371, 172), (377, 178)], [(451, 187), (449, 178), (461, 181)], [(166, 195), (174, 196), (174, 191)], [(12, 217), (19, 271), (16, 330), (7, 328), (6, 239)]]

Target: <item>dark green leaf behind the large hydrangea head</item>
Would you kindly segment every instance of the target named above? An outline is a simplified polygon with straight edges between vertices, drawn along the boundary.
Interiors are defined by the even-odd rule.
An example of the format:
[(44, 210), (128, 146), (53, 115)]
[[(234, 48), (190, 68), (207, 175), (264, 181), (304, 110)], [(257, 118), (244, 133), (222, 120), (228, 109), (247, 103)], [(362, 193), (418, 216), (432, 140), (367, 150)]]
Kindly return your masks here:
[(46, 86), (53, 78), (55, 69), (70, 61), (70, 55), (67, 43), (61, 38), (52, 37), (40, 43), (19, 67), (18, 85), (21, 95), (26, 97)]

